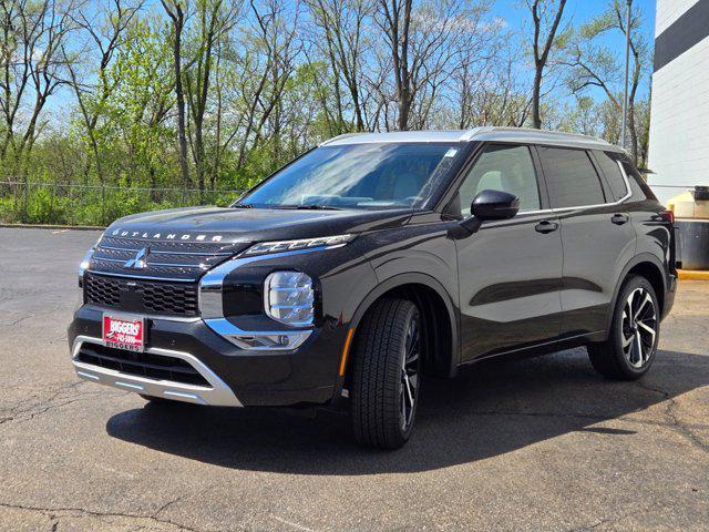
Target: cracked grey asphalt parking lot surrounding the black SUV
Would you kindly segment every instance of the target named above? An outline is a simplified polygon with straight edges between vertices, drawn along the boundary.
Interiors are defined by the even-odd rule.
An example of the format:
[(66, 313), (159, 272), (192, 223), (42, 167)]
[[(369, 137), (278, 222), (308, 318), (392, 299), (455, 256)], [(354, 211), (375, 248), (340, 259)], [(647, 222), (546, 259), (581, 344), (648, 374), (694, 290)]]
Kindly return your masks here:
[(97, 233), (0, 228), (0, 530), (709, 530), (709, 283), (640, 381), (584, 349), (430, 381), (397, 452), (347, 421), (160, 408), (80, 381), (66, 325)]

